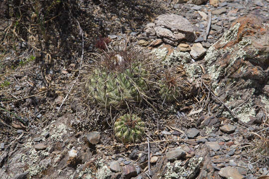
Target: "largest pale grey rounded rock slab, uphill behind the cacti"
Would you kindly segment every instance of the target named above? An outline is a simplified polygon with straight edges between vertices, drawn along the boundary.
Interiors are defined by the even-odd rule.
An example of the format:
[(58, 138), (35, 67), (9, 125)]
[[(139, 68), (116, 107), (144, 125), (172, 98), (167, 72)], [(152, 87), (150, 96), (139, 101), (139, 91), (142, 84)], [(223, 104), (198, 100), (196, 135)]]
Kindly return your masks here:
[(180, 15), (162, 14), (159, 15), (154, 22), (156, 26), (165, 27), (171, 32), (182, 33), (189, 42), (195, 39), (191, 23)]

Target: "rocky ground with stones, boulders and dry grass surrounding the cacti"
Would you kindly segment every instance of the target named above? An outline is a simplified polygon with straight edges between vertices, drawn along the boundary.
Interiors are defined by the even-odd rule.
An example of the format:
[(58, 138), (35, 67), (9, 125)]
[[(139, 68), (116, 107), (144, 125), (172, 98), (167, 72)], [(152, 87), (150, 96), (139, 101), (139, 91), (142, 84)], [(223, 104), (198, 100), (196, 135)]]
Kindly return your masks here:
[[(4, 0), (0, 22), (1, 179), (269, 178), (269, 0)], [(135, 143), (83, 88), (102, 37), (189, 87), (133, 109)]]

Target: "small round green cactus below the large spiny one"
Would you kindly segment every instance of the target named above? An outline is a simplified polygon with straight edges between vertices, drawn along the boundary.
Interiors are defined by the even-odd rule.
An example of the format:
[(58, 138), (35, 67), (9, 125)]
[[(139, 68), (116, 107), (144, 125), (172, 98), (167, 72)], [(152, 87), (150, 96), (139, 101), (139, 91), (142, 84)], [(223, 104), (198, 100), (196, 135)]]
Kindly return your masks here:
[(144, 122), (136, 115), (125, 114), (116, 120), (114, 131), (117, 140), (132, 143), (144, 134)]

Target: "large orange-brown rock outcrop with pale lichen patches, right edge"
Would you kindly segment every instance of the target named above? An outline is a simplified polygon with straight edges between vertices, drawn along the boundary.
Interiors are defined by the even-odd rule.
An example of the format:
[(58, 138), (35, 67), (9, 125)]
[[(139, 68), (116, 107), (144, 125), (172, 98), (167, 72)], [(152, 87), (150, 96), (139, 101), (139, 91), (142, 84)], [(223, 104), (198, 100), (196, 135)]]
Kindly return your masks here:
[[(226, 104), (233, 100), (248, 101), (233, 109), (243, 122), (248, 122), (249, 116), (255, 115), (251, 96), (261, 93), (269, 80), (268, 23), (268, 19), (255, 14), (238, 18), (209, 48), (204, 58), (206, 70), (213, 81), (212, 88)], [(233, 117), (227, 111), (223, 114)]]

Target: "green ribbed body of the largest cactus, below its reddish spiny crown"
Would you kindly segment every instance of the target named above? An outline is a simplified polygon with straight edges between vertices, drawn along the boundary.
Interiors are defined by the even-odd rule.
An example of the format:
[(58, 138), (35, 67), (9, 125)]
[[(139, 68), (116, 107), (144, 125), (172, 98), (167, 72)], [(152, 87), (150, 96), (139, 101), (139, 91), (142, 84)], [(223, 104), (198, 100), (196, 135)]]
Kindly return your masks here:
[(120, 72), (106, 68), (94, 70), (87, 85), (89, 96), (108, 109), (124, 107), (127, 102), (139, 102), (146, 89), (143, 74), (145, 71), (138, 66)]

